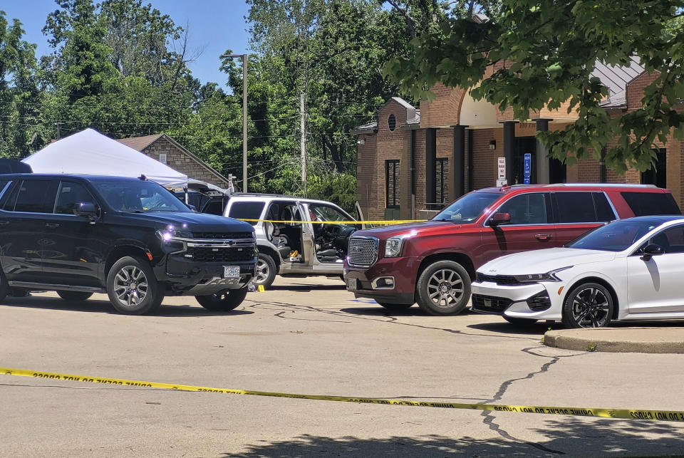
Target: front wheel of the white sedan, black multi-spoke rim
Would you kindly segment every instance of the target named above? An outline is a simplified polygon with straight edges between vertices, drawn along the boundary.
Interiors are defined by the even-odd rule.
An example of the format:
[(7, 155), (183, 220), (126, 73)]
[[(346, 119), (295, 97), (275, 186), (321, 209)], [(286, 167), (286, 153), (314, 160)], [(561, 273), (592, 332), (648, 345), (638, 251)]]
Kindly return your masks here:
[(613, 295), (599, 283), (581, 283), (573, 288), (563, 304), (566, 328), (605, 328), (615, 311)]

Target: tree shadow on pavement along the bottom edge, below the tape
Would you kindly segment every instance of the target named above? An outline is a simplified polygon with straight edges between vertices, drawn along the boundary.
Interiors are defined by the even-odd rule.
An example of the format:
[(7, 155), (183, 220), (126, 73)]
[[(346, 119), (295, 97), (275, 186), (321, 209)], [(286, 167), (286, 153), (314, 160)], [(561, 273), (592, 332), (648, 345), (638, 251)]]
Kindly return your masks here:
[(545, 437), (540, 442), (522, 439), (474, 439), (472, 437), (389, 437), (359, 439), (357, 437), (320, 437), (304, 434), (283, 442), (264, 442), (246, 446), (239, 454), (223, 457), (553, 457), (572, 456), (639, 456), (681, 454), (684, 437), (673, 423), (636, 422), (629, 420), (585, 420), (562, 417), (549, 420), (543, 430), (532, 430)]

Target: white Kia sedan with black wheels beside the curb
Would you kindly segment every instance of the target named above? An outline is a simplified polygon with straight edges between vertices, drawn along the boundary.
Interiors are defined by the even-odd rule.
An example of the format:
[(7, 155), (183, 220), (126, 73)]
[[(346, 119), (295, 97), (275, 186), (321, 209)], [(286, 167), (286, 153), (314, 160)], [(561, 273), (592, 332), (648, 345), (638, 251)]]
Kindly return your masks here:
[(472, 310), (510, 323), (684, 319), (684, 217), (636, 217), (477, 269)]

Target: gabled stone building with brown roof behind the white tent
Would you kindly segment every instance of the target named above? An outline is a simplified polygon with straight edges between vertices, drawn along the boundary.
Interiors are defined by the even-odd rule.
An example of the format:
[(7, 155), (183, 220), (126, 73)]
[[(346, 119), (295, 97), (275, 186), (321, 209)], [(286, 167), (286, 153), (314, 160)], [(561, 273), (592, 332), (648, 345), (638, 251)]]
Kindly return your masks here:
[(223, 189), (228, 187), (228, 179), (226, 177), (212, 167), (209, 167), (206, 162), (186, 150), (180, 143), (166, 134), (122, 138), (118, 142), (132, 147), (134, 150), (138, 150), (178, 172), (184, 173), (188, 178), (215, 184)]

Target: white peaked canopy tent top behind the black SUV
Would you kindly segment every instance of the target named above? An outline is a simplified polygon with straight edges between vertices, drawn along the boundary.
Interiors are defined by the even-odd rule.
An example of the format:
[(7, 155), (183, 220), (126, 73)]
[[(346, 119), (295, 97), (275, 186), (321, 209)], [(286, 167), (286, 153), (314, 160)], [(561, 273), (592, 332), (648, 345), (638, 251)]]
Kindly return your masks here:
[(187, 175), (90, 128), (57, 140), (22, 162), (35, 173), (145, 175), (165, 187), (187, 187)]

